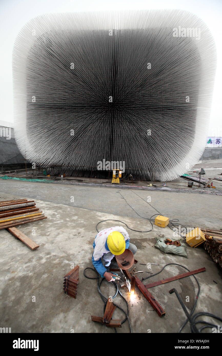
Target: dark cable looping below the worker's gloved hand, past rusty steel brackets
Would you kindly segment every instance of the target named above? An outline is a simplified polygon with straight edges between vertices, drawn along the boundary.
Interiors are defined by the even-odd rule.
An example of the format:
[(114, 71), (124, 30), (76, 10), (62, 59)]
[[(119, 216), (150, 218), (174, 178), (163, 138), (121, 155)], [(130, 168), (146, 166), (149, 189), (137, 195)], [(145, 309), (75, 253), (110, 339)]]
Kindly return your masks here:
[[(91, 269), (92, 271), (94, 271), (94, 272), (97, 274), (97, 277), (88, 277), (88, 276), (86, 275), (86, 273), (85, 273), (86, 269)], [(97, 290), (98, 290), (98, 292), (99, 292), (99, 295), (100, 295), (101, 299), (103, 300), (103, 303), (104, 303), (104, 310), (103, 310), (103, 312), (105, 312), (105, 307), (106, 307), (108, 298), (105, 297), (105, 295), (103, 295), (102, 292), (101, 292), (101, 290), (100, 290), (100, 286), (101, 286), (101, 284), (102, 284), (102, 282), (104, 281), (105, 278), (102, 278), (102, 280), (99, 281), (99, 278), (100, 278), (99, 273), (97, 272), (97, 270), (96, 270), (95, 268), (91, 268), (91, 267), (85, 268), (84, 271), (83, 271), (83, 274), (84, 274), (84, 276), (85, 276), (86, 278), (88, 278), (88, 279), (97, 279)], [(123, 297), (122, 293), (119, 291), (119, 288), (118, 288), (117, 283), (115, 283), (115, 282), (112, 282), (112, 283), (114, 284), (115, 288), (117, 289), (116, 294), (115, 294), (114, 297), (112, 297), (112, 298), (115, 298), (116, 295), (119, 294), (120, 297), (121, 297), (121, 298), (124, 300), (124, 302), (127, 304), (127, 312), (125, 312), (125, 310), (122, 309), (119, 305), (117, 305), (117, 304), (115, 304), (115, 303), (113, 303), (113, 305), (115, 305), (118, 309), (120, 309), (120, 310), (125, 314), (125, 319), (122, 320), (121, 324), (124, 324), (125, 321), (128, 320), (128, 322), (129, 322), (129, 328), (130, 328), (130, 333), (133, 333), (133, 331), (132, 331), (132, 329), (131, 329), (130, 320), (129, 320), (129, 307), (128, 307), (127, 300)], [(116, 328), (114, 328), (114, 330), (115, 330), (115, 333), (117, 333)]]

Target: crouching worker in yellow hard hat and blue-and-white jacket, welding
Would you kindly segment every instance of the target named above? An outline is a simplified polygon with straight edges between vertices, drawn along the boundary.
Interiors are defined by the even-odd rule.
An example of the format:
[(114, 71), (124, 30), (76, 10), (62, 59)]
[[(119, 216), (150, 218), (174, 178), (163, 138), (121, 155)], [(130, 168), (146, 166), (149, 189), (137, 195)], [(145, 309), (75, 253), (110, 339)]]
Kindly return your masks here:
[(113, 274), (109, 272), (109, 265), (114, 255), (121, 255), (126, 248), (134, 255), (137, 251), (136, 246), (129, 242), (128, 232), (123, 226), (109, 227), (99, 231), (95, 236), (93, 248), (93, 266), (108, 282), (114, 281)]

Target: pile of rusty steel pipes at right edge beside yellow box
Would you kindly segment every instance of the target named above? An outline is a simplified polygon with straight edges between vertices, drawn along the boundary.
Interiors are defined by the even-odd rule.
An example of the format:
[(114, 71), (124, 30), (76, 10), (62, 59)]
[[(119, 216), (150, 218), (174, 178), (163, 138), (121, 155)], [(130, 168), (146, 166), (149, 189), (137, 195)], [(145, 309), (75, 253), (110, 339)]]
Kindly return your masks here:
[(222, 268), (222, 231), (212, 232), (203, 230), (205, 232), (204, 248), (212, 257), (213, 261)]

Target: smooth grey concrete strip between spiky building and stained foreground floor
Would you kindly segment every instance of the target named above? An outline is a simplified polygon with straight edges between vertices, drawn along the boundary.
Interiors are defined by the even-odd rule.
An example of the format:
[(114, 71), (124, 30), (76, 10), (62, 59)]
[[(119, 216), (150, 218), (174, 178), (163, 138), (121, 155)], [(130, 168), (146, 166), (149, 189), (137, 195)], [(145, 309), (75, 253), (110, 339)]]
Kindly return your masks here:
[[(170, 219), (179, 219), (186, 226), (221, 229), (222, 196), (155, 190), (122, 190), (118, 188), (35, 183), (1, 179), (3, 194), (60, 203), (109, 214), (149, 219), (158, 210)], [(124, 200), (127, 200), (127, 202)], [(74, 202), (73, 202), (74, 200)], [(149, 201), (149, 204), (147, 203)], [(128, 204), (136, 211), (134, 211)], [(155, 210), (156, 209), (156, 210)], [(150, 226), (149, 222), (147, 223)], [(139, 229), (138, 229), (139, 230)], [(149, 229), (147, 229), (149, 230)]]

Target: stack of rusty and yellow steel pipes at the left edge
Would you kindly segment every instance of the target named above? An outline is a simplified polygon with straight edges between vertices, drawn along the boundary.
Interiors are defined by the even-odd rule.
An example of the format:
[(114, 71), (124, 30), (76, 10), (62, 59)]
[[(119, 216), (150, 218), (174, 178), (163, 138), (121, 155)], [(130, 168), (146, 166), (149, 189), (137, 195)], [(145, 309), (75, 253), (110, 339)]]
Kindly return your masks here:
[(0, 201), (0, 230), (43, 219), (47, 216), (36, 207), (35, 200)]

